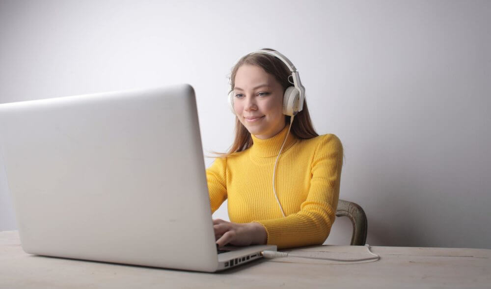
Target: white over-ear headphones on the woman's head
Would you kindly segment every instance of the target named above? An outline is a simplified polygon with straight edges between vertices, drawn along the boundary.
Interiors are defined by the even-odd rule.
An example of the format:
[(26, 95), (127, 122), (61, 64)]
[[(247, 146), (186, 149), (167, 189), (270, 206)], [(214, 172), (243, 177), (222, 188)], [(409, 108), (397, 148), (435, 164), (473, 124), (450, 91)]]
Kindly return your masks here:
[[(292, 87), (287, 87), (285, 90), (285, 94), (283, 95), (283, 115), (286, 116), (295, 116), (298, 114), (298, 112), (301, 112), (303, 109), (303, 100), (305, 99), (305, 87), (302, 86), (302, 83), (300, 82), (300, 75), (297, 71), (297, 68), (293, 65), (293, 63), (286, 58), (284, 55), (277, 51), (271, 51), (271, 50), (257, 50), (254, 52), (251, 52), (248, 55), (251, 54), (269, 54), (272, 55), (286, 64), (288, 69), (292, 72), (292, 78), (293, 78), (293, 85)], [(242, 58), (240, 58), (242, 59)], [(239, 59), (239, 60), (240, 60)], [(239, 61), (237, 61), (239, 62)], [(235, 65), (237, 65), (237, 62)], [(235, 66), (234, 65), (234, 66)], [(290, 77), (288, 77), (288, 81), (290, 82)], [(228, 92), (228, 104), (230, 107), (230, 110), (232, 113), (235, 115), (235, 109), (234, 109), (234, 90), (232, 89), (232, 81), (230, 80), (230, 88)], [(290, 82), (291, 83), (291, 82)]]

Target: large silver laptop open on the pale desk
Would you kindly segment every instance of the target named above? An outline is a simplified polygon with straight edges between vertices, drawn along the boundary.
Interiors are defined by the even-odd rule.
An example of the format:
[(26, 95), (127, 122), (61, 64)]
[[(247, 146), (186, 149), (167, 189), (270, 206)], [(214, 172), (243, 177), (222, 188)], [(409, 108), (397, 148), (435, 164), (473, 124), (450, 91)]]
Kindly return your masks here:
[(0, 164), (29, 254), (215, 272), (219, 250), (190, 85), (0, 104)]

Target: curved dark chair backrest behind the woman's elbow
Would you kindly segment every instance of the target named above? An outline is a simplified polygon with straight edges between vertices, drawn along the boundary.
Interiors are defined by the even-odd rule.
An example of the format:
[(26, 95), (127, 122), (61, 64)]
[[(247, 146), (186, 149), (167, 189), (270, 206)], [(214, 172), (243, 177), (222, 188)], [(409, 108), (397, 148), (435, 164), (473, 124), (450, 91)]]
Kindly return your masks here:
[(356, 203), (339, 200), (336, 217), (346, 216), (353, 224), (351, 245), (363, 246), (367, 240), (367, 216), (365, 211)]

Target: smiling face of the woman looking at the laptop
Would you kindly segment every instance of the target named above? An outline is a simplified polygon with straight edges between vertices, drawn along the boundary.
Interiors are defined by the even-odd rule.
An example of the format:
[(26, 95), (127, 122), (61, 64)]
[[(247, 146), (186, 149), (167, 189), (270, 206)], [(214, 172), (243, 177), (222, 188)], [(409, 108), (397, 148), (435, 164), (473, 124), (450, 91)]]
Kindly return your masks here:
[(244, 64), (237, 70), (234, 110), (240, 122), (258, 139), (269, 139), (286, 125), (282, 113), (283, 87), (263, 68)]

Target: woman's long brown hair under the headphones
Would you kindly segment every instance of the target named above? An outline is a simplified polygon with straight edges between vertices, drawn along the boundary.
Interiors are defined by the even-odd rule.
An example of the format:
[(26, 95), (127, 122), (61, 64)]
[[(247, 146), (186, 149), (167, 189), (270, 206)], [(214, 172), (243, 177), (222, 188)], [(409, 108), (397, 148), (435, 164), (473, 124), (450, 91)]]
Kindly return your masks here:
[[(274, 51), (273, 49), (263, 48), (263, 50)], [(264, 69), (267, 73), (274, 76), (274, 78), (283, 87), (283, 93), (287, 87), (292, 86), (288, 81), (289, 76), (292, 75), (290, 69), (283, 61), (269, 54), (250, 54), (241, 58), (237, 64), (232, 68), (230, 75), (230, 83), (232, 90), (235, 87), (235, 75), (237, 70), (244, 64), (256, 65)], [(287, 125), (290, 124), (291, 116), (285, 116)], [(307, 102), (303, 100), (303, 109), (293, 118), (293, 124), (291, 133), (298, 139), (311, 139), (318, 136), (312, 125), (310, 115), (308, 113)], [(226, 153), (214, 152), (218, 157), (227, 157), (234, 152), (246, 150), (252, 145), (252, 137), (250, 136), (247, 128), (240, 122), (239, 118), (235, 117), (235, 140), (230, 149)]]

